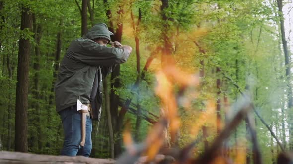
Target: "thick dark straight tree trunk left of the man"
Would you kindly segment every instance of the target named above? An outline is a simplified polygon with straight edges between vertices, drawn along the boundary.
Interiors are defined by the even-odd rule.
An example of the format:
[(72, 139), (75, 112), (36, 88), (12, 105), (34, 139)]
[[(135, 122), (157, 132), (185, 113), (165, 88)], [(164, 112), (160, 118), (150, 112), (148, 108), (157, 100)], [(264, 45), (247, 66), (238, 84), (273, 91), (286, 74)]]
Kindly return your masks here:
[[(29, 8), (22, 7), (20, 30), (31, 29), (32, 15)], [(28, 72), (29, 39), (20, 38), (18, 50), (16, 101), (15, 101), (15, 151), (27, 152), (27, 108), (28, 108)]]

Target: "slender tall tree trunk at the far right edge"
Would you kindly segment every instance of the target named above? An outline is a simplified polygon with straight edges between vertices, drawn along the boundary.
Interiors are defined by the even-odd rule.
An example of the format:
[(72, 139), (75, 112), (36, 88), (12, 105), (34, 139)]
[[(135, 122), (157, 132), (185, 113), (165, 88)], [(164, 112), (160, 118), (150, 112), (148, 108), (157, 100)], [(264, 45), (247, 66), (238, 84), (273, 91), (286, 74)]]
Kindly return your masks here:
[[(292, 112), (292, 106), (293, 106), (293, 97), (292, 97), (292, 85), (291, 85), (291, 78), (290, 78), (290, 58), (288, 54), (288, 47), (287, 47), (287, 41), (286, 41), (286, 36), (285, 36), (285, 27), (284, 27), (284, 16), (283, 16), (283, 4), (282, 0), (277, 0), (278, 4), (278, 16), (280, 19), (280, 29), (281, 29), (281, 39), (282, 39), (282, 44), (283, 44), (283, 50), (284, 50), (284, 57), (285, 57), (285, 67), (286, 67), (286, 80), (287, 80), (287, 98), (288, 98), (288, 112), (289, 112), (289, 149), (293, 150), (293, 116)], [(287, 90), (287, 89), (286, 89)]]

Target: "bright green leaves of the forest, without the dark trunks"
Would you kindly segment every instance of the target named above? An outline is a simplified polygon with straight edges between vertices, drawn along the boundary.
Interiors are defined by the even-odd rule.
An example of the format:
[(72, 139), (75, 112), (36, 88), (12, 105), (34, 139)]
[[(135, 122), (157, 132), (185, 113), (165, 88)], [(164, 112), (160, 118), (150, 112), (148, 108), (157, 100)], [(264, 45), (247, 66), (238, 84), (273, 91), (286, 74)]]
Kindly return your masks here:
[[(16, 69), (19, 38), (30, 39), (32, 43), (29, 74), (29, 110), (28, 110), (28, 138), (29, 151), (39, 154), (58, 155), (62, 147), (63, 132), (59, 115), (55, 112), (54, 84), (57, 34), (61, 34), (61, 59), (66, 53), (70, 42), (80, 37), (81, 16), (73, 0), (4, 0), (3, 9), (0, 10), (0, 137), (4, 150), (13, 150), (14, 147), (14, 122), (15, 122), (15, 91)], [(81, 1), (77, 0), (79, 5)], [(129, 60), (121, 65), (119, 78), (121, 86), (112, 88), (120, 99), (131, 99), (132, 103), (139, 104), (142, 115), (153, 118), (149, 112), (160, 115), (160, 100), (155, 94), (157, 82), (155, 73), (161, 67), (161, 53), (153, 54), (157, 47), (164, 47), (167, 34), (172, 45), (173, 57), (176, 66), (198, 73), (204, 70), (204, 77), (200, 78), (200, 87), (188, 89), (185, 96), (198, 93), (191, 100), (191, 109), (180, 106), (178, 111), (181, 118), (179, 145), (184, 145), (202, 137), (202, 131), (191, 134), (190, 130), (201, 121), (197, 120), (207, 111), (209, 102), (221, 99), (222, 122), (225, 122), (223, 96), (228, 97), (229, 103), (236, 102), (239, 91), (232, 82), (228, 81), (222, 73), (231, 77), (242, 90), (250, 86), (254, 96), (254, 104), (263, 119), (274, 130), (281, 140), (282, 123), (288, 124), (289, 119), (282, 118), (289, 113), (282, 113), (281, 109), (287, 108), (286, 77), (284, 57), (281, 50), (276, 5), (267, 0), (169, 0), (169, 7), (160, 11), (161, 2), (157, 0), (108, 0), (104, 4), (101, 0), (94, 2), (94, 21), (88, 19), (90, 24), (109, 21), (113, 23), (114, 30), (117, 24), (123, 24), (122, 44), (131, 45), (133, 53)], [(21, 5), (30, 8), (34, 14), (34, 27), (41, 28), (40, 43), (37, 45), (34, 30), (20, 30)], [(133, 12), (134, 22), (138, 19), (138, 10), (141, 9), (142, 19), (139, 31), (133, 31), (130, 11)], [(118, 14), (123, 9), (124, 14)], [(108, 19), (106, 10), (111, 10), (111, 19)], [(162, 19), (165, 15), (167, 20)], [(137, 24), (135, 24), (137, 26)], [(167, 27), (167, 28), (166, 28)], [(166, 30), (167, 29), (167, 30)], [(164, 31), (165, 30), (165, 31)], [(136, 69), (135, 35), (140, 40), (140, 68)], [(35, 48), (39, 47), (40, 56), (36, 57)], [(203, 52), (204, 50), (204, 52)], [(138, 87), (134, 87), (137, 77), (141, 77), (147, 59), (154, 56), (144, 79), (140, 79)], [(38, 61), (40, 70), (36, 70), (34, 63)], [(204, 63), (204, 64), (202, 64)], [(221, 72), (216, 74), (216, 68)], [(9, 75), (10, 74), (10, 75)], [(35, 82), (38, 80), (38, 87)], [(220, 97), (217, 97), (216, 80), (220, 79)], [(252, 82), (250, 79), (253, 79)], [(114, 81), (114, 80), (113, 80)], [(109, 87), (110, 89), (110, 87)], [(219, 96), (219, 95), (218, 95)], [(112, 103), (112, 102), (111, 102)], [(133, 108), (136, 108), (132, 104)], [(110, 156), (107, 117), (103, 105), (102, 121), (99, 124), (99, 133), (93, 132), (92, 157), (108, 158)], [(10, 115), (9, 115), (10, 114)], [(129, 120), (132, 133), (136, 133), (137, 115), (127, 112), (124, 122)], [(40, 120), (40, 121), (38, 121)], [(10, 127), (9, 127), (10, 125)], [(215, 123), (203, 123), (209, 128), (208, 141), (211, 143), (216, 137)], [(278, 146), (271, 141), (272, 136), (266, 127), (257, 120), (257, 136), (264, 163), (270, 163), (272, 156), (275, 158)], [(94, 130), (97, 123), (94, 123)], [(151, 124), (142, 120), (139, 127), (138, 140), (147, 137)], [(10, 130), (10, 129), (11, 130)], [(123, 130), (123, 129), (121, 129)], [(285, 126), (288, 131), (288, 126)], [(10, 132), (10, 133), (9, 133)], [(288, 138), (288, 134), (285, 134)], [(38, 138), (41, 137), (41, 138)], [(123, 136), (121, 131), (114, 134), (115, 142)], [(38, 142), (40, 140), (40, 142)], [(245, 123), (234, 131), (228, 143), (231, 147), (243, 144), (246, 140)], [(8, 146), (8, 142), (11, 143)], [(247, 141), (250, 143), (250, 141)], [(286, 141), (282, 141), (286, 142)], [(39, 145), (40, 144), (40, 145)], [(1, 145), (1, 143), (0, 143)], [(273, 151), (273, 155), (272, 155)], [(204, 152), (204, 143), (197, 145), (196, 155)], [(250, 154), (251, 152), (249, 152)]]

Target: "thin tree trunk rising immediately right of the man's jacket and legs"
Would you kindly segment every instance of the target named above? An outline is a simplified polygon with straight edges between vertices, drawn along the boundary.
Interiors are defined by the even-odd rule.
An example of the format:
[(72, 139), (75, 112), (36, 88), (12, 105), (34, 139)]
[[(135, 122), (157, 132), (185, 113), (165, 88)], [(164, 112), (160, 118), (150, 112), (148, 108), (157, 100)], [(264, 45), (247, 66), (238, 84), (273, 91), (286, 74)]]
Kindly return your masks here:
[(107, 113), (107, 121), (108, 121), (108, 129), (109, 129), (109, 145), (110, 145), (110, 157), (114, 159), (114, 135), (113, 135), (113, 126), (112, 126), (112, 120), (111, 120), (111, 113), (110, 113), (110, 96), (108, 93), (108, 87), (107, 87), (107, 78), (104, 79), (103, 85), (104, 87), (104, 93), (105, 93), (105, 108)]

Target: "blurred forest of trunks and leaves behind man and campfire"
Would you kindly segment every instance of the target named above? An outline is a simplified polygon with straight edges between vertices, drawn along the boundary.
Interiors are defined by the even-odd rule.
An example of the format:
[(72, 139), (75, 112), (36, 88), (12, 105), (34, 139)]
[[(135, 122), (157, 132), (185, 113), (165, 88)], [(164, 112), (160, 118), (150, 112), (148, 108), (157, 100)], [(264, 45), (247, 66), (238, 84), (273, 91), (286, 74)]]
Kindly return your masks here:
[[(292, 150), (292, 6), (290, 0), (0, 0), (1, 149), (59, 154), (63, 132), (54, 102), (59, 63), (73, 39), (105, 22), (115, 34), (112, 40), (131, 45), (133, 53), (105, 82), (102, 120), (93, 122), (92, 157), (122, 153), (127, 121), (135, 141), (146, 137), (161, 115), (155, 72), (170, 62), (198, 74), (200, 85), (185, 93), (193, 99), (188, 107), (180, 100), (181, 126), (169, 146), (203, 136), (195, 154), (204, 152), (229, 119), (240, 94), (235, 82), (251, 92), (256, 111)], [(31, 25), (22, 24), (24, 13)], [(209, 104), (215, 104), (212, 114)], [(199, 119), (203, 113), (208, 116)], [(255, 123), (264, 162), (272, 163), (281, 149), (257, 117)], [(27, 132), (20, 132), (25, 130), (20, 125)], [(245, 150), (249, 163), (253, 152), (246, 130), (243, 121), (226, 145), (230, 156)], [(17, 148), (25, 136), (27, 143), (21, 140)]]

